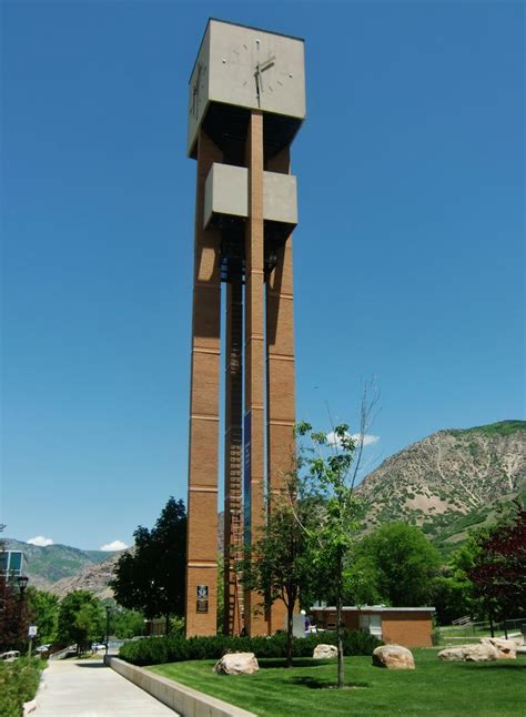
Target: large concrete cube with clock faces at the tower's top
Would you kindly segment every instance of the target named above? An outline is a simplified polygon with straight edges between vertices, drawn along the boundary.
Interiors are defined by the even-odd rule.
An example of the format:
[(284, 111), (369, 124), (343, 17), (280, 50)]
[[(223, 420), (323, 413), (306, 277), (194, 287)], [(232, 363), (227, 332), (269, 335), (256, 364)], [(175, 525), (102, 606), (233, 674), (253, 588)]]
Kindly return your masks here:
[[(229, 112), (229, 108), (232, 111)], [(299, 38), (211, 19), (189, 85), (188, 154), (212, 114), (232, 129), (240, 109), (262, 110), (290, 122), (292, 140), (305, 118), (304, 42)]]

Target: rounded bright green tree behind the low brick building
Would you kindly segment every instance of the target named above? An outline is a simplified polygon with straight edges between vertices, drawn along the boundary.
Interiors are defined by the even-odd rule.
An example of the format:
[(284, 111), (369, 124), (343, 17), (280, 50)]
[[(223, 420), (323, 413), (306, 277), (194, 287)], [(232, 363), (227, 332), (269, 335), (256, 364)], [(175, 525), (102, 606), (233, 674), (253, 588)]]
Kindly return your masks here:
[(433, 600), (441, 554), (416, 526), (390, 523), (362, 538), (358, 565), (370, 575), (376, 602), (417, 607)]

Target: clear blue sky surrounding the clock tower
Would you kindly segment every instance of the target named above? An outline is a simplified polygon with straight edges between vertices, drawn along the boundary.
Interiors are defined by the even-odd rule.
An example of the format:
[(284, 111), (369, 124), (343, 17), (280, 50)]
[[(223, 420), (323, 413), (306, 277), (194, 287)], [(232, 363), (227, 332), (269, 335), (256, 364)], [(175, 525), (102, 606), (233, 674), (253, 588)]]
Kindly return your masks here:
[(374, 464), (524, 415), (520, 2), (3, 2), (2, 493), (20, 539), (129, 544), (185, 498), (210, 16), (305, 38), (297, 416)]

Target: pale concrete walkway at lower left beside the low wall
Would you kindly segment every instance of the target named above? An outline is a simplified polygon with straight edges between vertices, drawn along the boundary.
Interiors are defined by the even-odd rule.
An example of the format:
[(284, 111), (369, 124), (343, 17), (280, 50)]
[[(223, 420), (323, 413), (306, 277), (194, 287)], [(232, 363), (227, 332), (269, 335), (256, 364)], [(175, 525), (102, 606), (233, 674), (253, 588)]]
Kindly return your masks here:
[(50, 660), (36, 717), (166, 717), (174, 713), (98, 659)]

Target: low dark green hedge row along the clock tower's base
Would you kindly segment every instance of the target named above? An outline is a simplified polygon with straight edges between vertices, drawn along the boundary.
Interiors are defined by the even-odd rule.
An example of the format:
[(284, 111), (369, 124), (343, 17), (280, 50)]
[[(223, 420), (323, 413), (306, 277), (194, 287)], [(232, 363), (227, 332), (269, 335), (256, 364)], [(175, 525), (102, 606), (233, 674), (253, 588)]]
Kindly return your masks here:
[[(321, 633), (293, 642), (294, 657), (312, 657), (320, 643), (336, 644), (335, 633)], [(343, 650), (345, 655), (371, 655), (383, 643), (368, 633), (345, 632)], [(285, 657), (286, 635), (279, 633), (272, 637), (216, 637), (181, 636), (148, 637), (124, 643), (119, 657), (132, 665), (160, 665), (179, 663), (186, 659), (219, 659), (227, 650), (254, 653), (256, 657)]]

